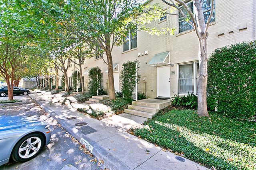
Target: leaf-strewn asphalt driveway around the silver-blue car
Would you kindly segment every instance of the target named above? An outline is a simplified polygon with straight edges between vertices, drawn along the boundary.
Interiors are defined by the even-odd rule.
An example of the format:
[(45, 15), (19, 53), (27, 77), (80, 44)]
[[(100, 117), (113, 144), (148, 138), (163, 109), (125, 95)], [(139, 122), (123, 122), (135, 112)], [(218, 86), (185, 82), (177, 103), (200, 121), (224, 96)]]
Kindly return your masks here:
[[(4, 98), (0, 98), (0, 100)], [(90, 162), (91, 158), (80, 150), (80, 144), (66, 132), (48, 113), (44, 113), (28, 96), (14, 96), (14, 99), (21, 99), (26, 102), (19, 106), (0, 106), (0, 115), (23, 115), (36, 117), (50, 123), (52, 129), (51, 142), (38, 154), (38, 156), (28, 162), (16, 163), (10, 161), (8, 164), (0, 166), (1, 170), (10, 169), (43, 169), (61, 170), (63, 169), (101, 169), (96, 162)], [(81, 148), (82, 149), (82, 148)]]

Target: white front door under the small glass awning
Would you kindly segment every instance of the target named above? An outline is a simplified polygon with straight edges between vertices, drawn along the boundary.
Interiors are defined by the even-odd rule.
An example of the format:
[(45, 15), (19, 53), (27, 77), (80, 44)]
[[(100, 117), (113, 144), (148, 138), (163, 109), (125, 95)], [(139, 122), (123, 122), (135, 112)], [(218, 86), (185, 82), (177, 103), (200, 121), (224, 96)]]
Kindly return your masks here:
[(157, 97), (170, 98), (170, 66), (157, 67)]

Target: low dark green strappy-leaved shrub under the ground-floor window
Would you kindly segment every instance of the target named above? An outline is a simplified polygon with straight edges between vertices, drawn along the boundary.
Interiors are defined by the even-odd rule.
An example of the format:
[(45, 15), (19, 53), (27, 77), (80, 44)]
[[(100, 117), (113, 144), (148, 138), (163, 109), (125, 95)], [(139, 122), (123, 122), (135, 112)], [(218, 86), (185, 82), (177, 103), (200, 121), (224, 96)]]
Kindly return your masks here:
[(180, 97), (179, 95), (174, 95), (172, 99), (172, 105), (197, 109), (197, 97), (193, 93), (189, 94), (189, 92), (187, 96)]

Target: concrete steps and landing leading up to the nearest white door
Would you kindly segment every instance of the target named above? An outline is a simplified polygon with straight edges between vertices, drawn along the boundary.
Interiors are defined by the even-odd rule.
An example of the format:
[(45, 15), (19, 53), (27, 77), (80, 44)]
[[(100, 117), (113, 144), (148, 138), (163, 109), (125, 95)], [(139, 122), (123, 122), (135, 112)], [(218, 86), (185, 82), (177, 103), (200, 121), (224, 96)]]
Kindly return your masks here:
[(171, 99), (159, 100), (159, 99), (144, 99), (132, 102), (132, 105), (125, 109), (125, 113), (137, 115), (140, 117), (146, 117), (152, 119), (152, 117), (158, 113), (159, 110), (164, 109), (172, 104)]

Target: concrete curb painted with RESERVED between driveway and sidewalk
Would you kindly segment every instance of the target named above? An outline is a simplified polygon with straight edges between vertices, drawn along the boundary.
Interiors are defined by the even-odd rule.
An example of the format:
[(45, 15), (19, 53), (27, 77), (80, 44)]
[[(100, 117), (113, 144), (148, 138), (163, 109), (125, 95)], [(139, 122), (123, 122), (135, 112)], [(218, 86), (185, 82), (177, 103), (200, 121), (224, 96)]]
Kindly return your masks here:
[(102, 148), (100, 145), (98, 145), (98, 143), (96, 143), (95, 141), (92, 141), (91, 139), (86, 137), (86, 135), (84, 135), (82, 132), (80, 132), (78, 129), (76, 129), (75, 126), (70, 125), (63, 119), (60, 119), (58, 117), (57, 113), (55, 113), (52, 109), (50, 109), (49, 107), (47, 107), (44, 104), (37, 101), (36, 98), (34, 98), (34, 96), (30, 96), (30, 95), (28, 95), (28, 96), (32, 100), (34, 100), (44, 111), (46, 111), (47, 113), (50, 113), (50, 115), (52, 115), (52, 117), (54, 119), (56, 119), (68, 131), (68, 133), (70, 133), (72, 136), (74, 136), (76, 139), (78, 139), (79, 142), (80, 142), (81, 138), (88, 141), (88, 143), (90, 143), (90, 145), (92, 145), (92, 147), (93, 147), (92, 154), (95, 157), (97, 157), (98, 159), (104, 160), (104, 165), (107, 168), (110, 168), (113, 170), (130, 170), (130, 168), (128, 166), (126, 166), (123, 162), (121, 162), (120, 160), (118, 160), (117, 158), (112, 156), (104, 148)]

